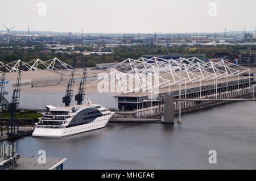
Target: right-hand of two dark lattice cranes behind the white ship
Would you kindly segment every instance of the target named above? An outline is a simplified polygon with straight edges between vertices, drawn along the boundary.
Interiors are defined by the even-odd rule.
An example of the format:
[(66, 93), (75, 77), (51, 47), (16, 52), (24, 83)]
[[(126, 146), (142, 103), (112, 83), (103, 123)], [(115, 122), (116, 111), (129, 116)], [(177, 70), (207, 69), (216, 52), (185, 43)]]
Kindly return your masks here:
[(86, 56), (86, 60), (85, 60), (85, 68), (84, 68), (84, 71), (82, 72), (82, 79), (81, 79), (81, 82), (79, 85), (79, 90), (77, 92), (77, 95), (75, 96), (77, 105), (81, 105), (82, 100), (84, 100), (85, 88), (86, 88), (86, 61), (87, 61), (87, 56)]

